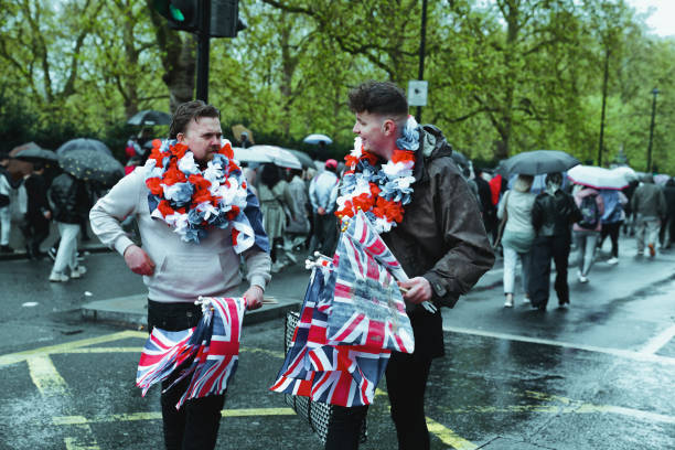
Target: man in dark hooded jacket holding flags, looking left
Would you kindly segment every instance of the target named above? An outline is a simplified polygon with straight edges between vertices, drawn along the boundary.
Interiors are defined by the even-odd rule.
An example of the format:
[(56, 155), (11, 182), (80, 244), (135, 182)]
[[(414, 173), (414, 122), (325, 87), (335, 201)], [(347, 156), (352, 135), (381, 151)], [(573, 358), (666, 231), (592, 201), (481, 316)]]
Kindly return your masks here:
[[(364, 148), (390, 160), (408, 117), (404, 92), (392, 83), (367, 82), (350, 93), (353, 131)], [(494, 262), (478, 204), (450, 158), (451, 147), (433, 127), (418, 127), (411, 202), (403, 222), (383, 238), (406, 274), (399, 286), (415, 334), (415, 353), (393, 352), (386, 377), (399, 449), (428, 449), (424, 395), (431, 360), (442, 356), (440, 307), (452, 308)], [(424, 302), (435, 307), (422, 308)], [(425, 303), (429, 307), (428, 303)], [(433, 312), (432, 312), (433, 311)], [(356, 449), (367, 407), (334, 406), (326, 449)]]

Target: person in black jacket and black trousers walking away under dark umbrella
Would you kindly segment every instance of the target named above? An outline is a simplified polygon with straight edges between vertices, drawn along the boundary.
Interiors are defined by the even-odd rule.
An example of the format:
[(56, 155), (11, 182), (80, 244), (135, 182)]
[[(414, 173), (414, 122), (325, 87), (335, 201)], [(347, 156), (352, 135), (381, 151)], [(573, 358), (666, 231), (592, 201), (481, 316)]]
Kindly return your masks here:
[(560, 189), (562, 174), (546, 175), (546, 190), (535, 199), (532, 224), (536, 237), (532, 245), (529, 299), (533, 308), (546, 311), (550, 287), (550, 259), (556, 265), (555, 289), (558, 303), (569, 303), (567, 268), (571, 245), (570, 226), (581, 219), (581, 213), (570, 194)]

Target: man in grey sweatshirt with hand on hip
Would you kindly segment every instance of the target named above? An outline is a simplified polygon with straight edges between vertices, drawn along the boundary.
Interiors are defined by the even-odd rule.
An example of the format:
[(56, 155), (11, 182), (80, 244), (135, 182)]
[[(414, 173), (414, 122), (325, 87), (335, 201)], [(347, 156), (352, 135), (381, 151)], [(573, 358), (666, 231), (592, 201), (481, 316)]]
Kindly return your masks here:
[[(176, 168), (172, 170), (175, 178), (179, 171), (199, 170), (202, 175), (199, 183), (214, 176), (213, 168), (207, 165), (222, 147), (222, 129), (219, 111), (203, 101), (190, 101), (178, 107), (172, 118), (170, 139), (175, 139), (175, 147), (185, 144), (188, 158), (179, 158)], [(192, 158), (190, 157), (192, 153)], [(151, 157), (152, 158), (152, 157)], [(217, 157), (222, 158), (222, 157)], [(169, 158), (159, 158), (157, 165), (168, 164)], [(193, 164), (194, 161), (194, 165)], [(153, 161), (154, 162), (154, 161)], [(185, 169), (190, 164), (191, 169)], [(110, 192), (100, 199), (89, 213), (92, 229), (98, 238), (110, 248), (124, 256), (129, 269), (142, 275), (148, 287), (148, 328), (158, 326), (168, 331), (180, 331), (195, 326), (201, 319), (201, 308), (194, 304), (199, 296), (232, 297), (242, 282), (239, 272), (240, 257), (246, 261), (249, 288), (244, 293), (247, 309), (257, 309), (262, 304), (262, 292), (270, 280), (269, 242), (261, 226), (259, 204), (248, 190), (239, 190), (238, 195), (246, 197), (245, 228), (255, 232), (247, 245), (240, 245), (240, 228), (235, 231), (235, 221), (218, 222), (219, 226), (204, 226), (203, 221), (195, 221), (195, 214), (202, 214), (195, 205), (203, 199), (189, 197), (188, 216), (190, 224), (199, 229), (199, 239), (186, 239), (181, 236), (179, 222), (169, 221), (167, 205), (175, 199), (168, 193), (169, 170), (162, 175), (163, 184), (159, 191), (152, 191), (146, 182), (150, 171), (157, 170), (152, 163), (138, 168), (125, 176)], [(178, 169), (178, 170), (175, 170)], [(210, 172), (211, 171), (211, 172)], [(228, 172), (227, 172), (228, 173)], [(217, 173), (216, 173), (217, 175)], [(183, 175), (178, 174), (179, 178)], [(156, 179), (157, 180), (157, 179)], [(193, 175), (188, 182), (192, 191), (197, 192)], [(222, 185), (229, 188), (238, 180), (227, 178)], [(212, 183), (213, 186), (213, 183)], [(203, 188), (203, 186), (202, 186)], [(153, 202), (163, 192), (164, 200)], [(202, 190), (202, 192), (204, 192)], [(234, 203), (233, 203), (234, 204)], [(159, 212), (161, 214), (158, 214)], [(178, 207), (176, 207), (178, 211)], [(164, 214), (164, 219), (162, 219)], [(141, 235), (141, 247), (135, 245), (124, 232), (120, 222), (128, 216), (135, 216)], [(227, 225), (229, 224), (229, 225)], [(183, 227), (185, 223), (182, 224)], [(184, 228), (183, 228), (184, 229)], [(244, 233), (242, 233), (243, 235)], [(248, 248), (243, 248), (243, 247)], [(165, 389), (173, 382), (173, 376), (162, 383)], [(167, 449), (213, 449), (215, 448), (219, 427), (221, 410), (224, 395), (207, 396), (188, 400), (180, 409), (175, 409), (178, 400), (186, 390), (189, 377), (176, 386), (162, 393), (162, 418)]]

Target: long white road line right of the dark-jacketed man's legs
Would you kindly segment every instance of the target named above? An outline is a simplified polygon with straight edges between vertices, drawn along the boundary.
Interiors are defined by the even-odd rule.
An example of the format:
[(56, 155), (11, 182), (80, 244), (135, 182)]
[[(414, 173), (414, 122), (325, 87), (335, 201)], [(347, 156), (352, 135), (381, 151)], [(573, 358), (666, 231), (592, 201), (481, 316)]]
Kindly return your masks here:
[(559, 347), (565, 347), (565, 349), (575, 349), (575, 350), (583, 350), (587, 352), (604, 353), (608, 355), (621, 356), (621, 357), (625, 357), (630, 360), (675, 365), (675, 357), (661, 356), (661, 355), (655, 355), (655, 354), (644, 353), (644, 352), (633, 352), (630, 350), (598, 347), (593, 345), (575, 344), (571, 342), (553, 341), (548, 339), (523, 336), (519, 334), (496, 333), (492, 331), (464, 329), (464, 328), (449, 326), (449, 325), (443, 325), (443, 331), (449, 331), (451, 333), (460, 333), (460, 334), (472, 334), (472, 335), (484, 336), (484, 338), (494, 338), (494, 339), (501, 339), (501, 340), (506, 340), (506, 341), (527, 342), (532, 344), (554, 345), (554, 346), (559, 346)]

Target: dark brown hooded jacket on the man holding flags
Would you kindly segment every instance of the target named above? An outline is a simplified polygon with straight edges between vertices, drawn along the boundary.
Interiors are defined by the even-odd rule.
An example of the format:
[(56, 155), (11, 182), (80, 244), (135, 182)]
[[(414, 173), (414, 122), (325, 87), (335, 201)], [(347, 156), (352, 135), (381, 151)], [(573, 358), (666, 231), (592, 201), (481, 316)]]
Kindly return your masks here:
[[(424, 146), (416, 152), (414, 192), (404, 219), (383, 234), (408, 277), (431, 283), (432, 301), (452, 308), (494, 264), (478, 202), (450, 154), (442, 132), (425, 126)], [(417, 306), (409, 312), (418, 350), (443, 354), (442, 319)]]

